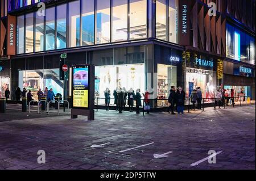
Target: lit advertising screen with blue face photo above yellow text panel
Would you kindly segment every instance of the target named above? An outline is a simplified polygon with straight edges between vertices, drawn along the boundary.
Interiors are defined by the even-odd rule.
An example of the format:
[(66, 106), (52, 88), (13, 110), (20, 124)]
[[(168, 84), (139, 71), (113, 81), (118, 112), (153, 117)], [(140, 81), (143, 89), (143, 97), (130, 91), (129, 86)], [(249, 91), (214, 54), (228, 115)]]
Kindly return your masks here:
[(89, 67), (73, 66), (73, 107), (88, 108)]

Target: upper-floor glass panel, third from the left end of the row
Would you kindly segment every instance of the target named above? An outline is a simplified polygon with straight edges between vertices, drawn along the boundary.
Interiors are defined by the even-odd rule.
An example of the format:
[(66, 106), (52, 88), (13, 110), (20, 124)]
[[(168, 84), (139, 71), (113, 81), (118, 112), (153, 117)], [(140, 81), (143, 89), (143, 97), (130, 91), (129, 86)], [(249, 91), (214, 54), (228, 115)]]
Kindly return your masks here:
[(44, 16), (35, 18), (35, 51), (40, 52), (44, 50)]

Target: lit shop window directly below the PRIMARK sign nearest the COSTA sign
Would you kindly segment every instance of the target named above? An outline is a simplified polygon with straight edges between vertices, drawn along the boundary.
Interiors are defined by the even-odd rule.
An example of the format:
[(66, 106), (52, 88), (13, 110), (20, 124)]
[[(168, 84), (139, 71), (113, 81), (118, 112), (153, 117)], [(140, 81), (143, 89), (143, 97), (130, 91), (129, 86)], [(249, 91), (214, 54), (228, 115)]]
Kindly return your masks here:
[[(186, 81), (187, 98), (197, 87), (201, 87), (203, 98), (214, 98), (214, 92), (216, 92), (215, 71), (187, 68)], [(205, 99), (205, 101), (212, 102), (213, 99)]]

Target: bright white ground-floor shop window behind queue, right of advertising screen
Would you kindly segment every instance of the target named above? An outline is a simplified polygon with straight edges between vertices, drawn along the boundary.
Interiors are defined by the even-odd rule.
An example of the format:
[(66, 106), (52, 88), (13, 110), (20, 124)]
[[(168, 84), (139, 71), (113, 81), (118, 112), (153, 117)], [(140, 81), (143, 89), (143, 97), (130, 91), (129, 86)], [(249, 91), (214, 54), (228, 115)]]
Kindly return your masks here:
[[(141, 89), (144, 91), (145, 75), (144, 64), (114, 65), (114, 66), (96, 66), (95, 67), (95, 96), (104, 98), (104, 90), (108, 87), (110, 98), (113, 98), (113, 91), (117, 87), (125, 87), (126, 90)], [(100, 99), (100, 104), (105, 100)], [(113, 104), (113, 100), (110, 100)]]

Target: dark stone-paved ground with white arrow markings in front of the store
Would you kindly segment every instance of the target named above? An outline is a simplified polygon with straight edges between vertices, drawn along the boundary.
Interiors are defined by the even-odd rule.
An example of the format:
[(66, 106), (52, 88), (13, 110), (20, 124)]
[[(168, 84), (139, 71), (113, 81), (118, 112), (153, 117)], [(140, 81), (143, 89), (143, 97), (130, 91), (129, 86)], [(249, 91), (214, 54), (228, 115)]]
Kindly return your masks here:
[[(0, 169), (255, 169), (255, 105), (184, 115), (99, 110), (95, 117), (1, 122)], [(215, 164), (204, 161), (209, 150), (219, 153)]]

